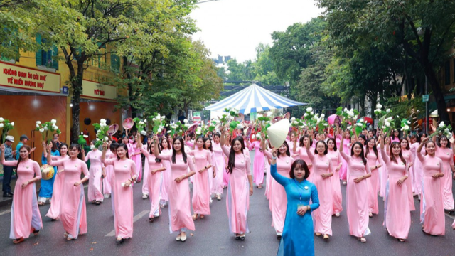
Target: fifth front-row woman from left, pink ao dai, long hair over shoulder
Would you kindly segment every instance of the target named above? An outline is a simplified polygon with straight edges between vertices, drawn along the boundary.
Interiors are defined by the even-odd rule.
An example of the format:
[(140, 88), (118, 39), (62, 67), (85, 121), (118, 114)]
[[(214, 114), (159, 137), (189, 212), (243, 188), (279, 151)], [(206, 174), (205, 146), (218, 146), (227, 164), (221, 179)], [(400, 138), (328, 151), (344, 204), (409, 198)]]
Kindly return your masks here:
[(228, 171), (230, 180), (228, 184), (228, 197), (226, 207), (228, 210), (229, 230), (235, 233), (235, 239), (245, 240), (249, 233), (247, 212), (252, 196), (252, 176), (250, 170), (250, 157), (242, 151), (242, 139), (232, 139), (231, 146), (225, 146), (225, 133), (222, 130), (221, 144), (223, 153), (229, 157)]

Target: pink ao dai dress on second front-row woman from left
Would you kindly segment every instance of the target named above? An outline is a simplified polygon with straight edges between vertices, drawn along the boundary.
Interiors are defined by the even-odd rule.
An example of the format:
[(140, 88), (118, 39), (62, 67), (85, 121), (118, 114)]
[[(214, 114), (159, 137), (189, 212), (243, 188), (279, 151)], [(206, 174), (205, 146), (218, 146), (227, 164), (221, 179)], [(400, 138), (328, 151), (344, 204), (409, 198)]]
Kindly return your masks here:
[(63, 228), (68, 233), (69, 238), (77, 239), (78, 235), (87, 233), (87, 210), (85, 209), (84, 186), (74, 186), (80, 181), (83, 173), (85, 178), (89, 178), (89, 172), (85, 161), (80, 159), (60, 159), (51, 160), (52, 166), (63, 166), (65, 170), (65, 180), (62, 188), (62, 198), (60, 215), (58, 218), (63, 224)]

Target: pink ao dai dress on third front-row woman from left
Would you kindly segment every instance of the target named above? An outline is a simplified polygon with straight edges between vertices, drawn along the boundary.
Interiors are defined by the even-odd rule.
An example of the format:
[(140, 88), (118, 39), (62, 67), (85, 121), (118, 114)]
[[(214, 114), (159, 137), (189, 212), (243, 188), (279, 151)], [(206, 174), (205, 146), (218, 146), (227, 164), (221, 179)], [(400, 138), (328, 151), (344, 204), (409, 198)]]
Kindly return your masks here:
[(114, 166), (112, 178), (112, 206), (114, 206), (114, 229), (116, 238), (133, 237), (133, 187), (122, 186), (136, 174), (136, 163), (132, 159), (105, 159), (105, 166)]

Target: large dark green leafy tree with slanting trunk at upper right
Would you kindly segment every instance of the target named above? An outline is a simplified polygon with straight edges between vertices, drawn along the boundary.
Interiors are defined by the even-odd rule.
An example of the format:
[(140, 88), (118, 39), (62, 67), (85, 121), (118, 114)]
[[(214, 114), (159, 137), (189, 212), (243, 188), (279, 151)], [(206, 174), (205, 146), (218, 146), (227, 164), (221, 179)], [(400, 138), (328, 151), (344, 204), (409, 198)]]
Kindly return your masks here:
[(318, 0), (326, 9), (333, 45), (343, 53), (355, 43), (401, 48), (427, 76), (439, 116), (448, 121), (437, 72), (455, 37), (455, 1)]

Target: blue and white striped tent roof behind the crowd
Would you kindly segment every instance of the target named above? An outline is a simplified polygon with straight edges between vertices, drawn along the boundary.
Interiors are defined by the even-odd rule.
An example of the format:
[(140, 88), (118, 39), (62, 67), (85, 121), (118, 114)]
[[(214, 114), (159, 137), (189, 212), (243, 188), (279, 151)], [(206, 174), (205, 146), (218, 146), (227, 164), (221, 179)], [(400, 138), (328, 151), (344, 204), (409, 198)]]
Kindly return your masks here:
[(240, 110), (240, 113), (249, 114), (306, 104), (308, 103), (289, 100), (286, 97), (282, 97), (274, 92), (265, 90), (259, 85), (252, 84), (240, 92), (237, 92), (235, 95), (231, 95), (220, 102), (205, 107), (204, 110), (224, 111), (225, 108), (234, 107), (237, 110)]

